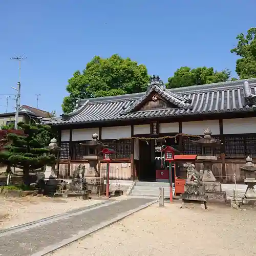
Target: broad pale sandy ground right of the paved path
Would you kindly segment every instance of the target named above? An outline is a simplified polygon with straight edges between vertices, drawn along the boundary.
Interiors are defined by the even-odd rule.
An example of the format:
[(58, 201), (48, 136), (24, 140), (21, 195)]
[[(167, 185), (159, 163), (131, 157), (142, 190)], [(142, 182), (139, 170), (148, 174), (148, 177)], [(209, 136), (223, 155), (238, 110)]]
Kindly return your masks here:
[(180, 206), (154, 204), (50, 255), (256, 255), (256, 207)]

